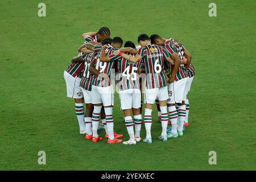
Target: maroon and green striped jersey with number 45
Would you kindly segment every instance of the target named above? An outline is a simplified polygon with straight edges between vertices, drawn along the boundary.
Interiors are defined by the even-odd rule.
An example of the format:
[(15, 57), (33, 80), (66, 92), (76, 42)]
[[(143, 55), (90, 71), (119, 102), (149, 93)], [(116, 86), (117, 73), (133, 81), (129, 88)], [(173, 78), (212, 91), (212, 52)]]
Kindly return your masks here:
[[(135, 55), (127, 53), (127, 55)], [(137, 63), (131, 63), (126, 60), (122, 56), (110, 56), (110, 61), (118, 61), (118, 88), (119, 90), (127, 90), (127, 89), (140, 89), (139, 88), (139, 77), (138, 77), (138, 69), (142, 68), (142, 60), (139, 60)]]

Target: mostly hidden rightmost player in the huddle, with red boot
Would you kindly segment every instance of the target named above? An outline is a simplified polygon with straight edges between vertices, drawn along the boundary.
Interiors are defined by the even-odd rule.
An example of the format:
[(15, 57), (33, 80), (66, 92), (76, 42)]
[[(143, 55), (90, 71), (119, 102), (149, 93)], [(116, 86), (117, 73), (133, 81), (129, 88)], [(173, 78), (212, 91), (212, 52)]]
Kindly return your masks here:
[[(187, 72), (188, 72), (188, 84), (186, 86), (186, 93), (188, 94), (190, 88), (191, 88), (191, 84), (192, 84), (192, 81), (193, 81), (193, 78), (195, 76), (195, 68), (192, 64), (189, 64), (189, 67), (187, 69)], [(186, 94), (186, 96), (187, 96)], [(186, 104), (186, 117), (185, 117), (185, 126), (188, 126), (188, 114), (189, 114), (189, 101), (188, 101), (188, 97), (187, 99), (185, 100), (185, 104)]]

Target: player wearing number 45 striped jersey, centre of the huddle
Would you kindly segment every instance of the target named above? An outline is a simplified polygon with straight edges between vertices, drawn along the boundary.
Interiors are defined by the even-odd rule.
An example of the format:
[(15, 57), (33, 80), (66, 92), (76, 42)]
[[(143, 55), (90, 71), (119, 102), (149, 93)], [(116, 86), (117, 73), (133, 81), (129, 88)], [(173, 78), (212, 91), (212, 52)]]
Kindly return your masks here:
[[(125, 50), (125, 48), (127, 48)], [(135, 56), (137, 50), (135, 50), (135, 44), (131, 41), (125, 43), (125, 48), (122, 52), (132, 52), (127, 53), (128, 55)], [(129, 49), (132, 48), (132, 49)], [(133, 52), (134, 51), (134, 52)], [(128, 131), (130, 139), (123, 142), (123, 144), (136, 144), (141, 141), (141, 90), (139, 89), (139, 77), (138, 73), (141, 71), (142, 60), (137, 63), (131, 63), (122, 56), (116, 57), (115, 55), (107, 56), (105, 55), (105, 46), (101, 50), (100, 61), (118, 61), (118, 74), (120, 81), (118, 83), (119, 98), (121, 101), (121, 108), (125, 114), (125, 125)], [(140, 70), (140, 71), (139, 71)], [(134, 135), (134, 122), (131, 115), (134, 115), (135, 121), (135, 135)]]

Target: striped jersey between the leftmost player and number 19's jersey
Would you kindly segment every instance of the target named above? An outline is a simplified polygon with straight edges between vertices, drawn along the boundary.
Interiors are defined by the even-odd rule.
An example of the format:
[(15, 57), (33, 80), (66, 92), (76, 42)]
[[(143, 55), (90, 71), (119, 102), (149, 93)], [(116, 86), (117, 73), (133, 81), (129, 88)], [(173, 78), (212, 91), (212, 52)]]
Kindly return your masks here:
[(92, 73), (89, 72), (90, 63), (97, 57), (99, 53), (90, 53), (82, 55), (82, 59), (84, 59), (84, 74), (82, 75), (80, 86), (85, 90), (92, 91)]

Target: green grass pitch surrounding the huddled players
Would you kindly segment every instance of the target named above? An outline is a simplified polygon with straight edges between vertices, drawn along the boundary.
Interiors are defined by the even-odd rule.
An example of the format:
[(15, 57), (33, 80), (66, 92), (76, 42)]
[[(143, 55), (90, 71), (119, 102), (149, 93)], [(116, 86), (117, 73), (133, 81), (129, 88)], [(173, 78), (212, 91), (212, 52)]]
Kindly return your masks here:
[[(256, 1), (1, 1), (1, 170), (255, 170)], [(209, 3), (217, 5), (210, 17)], [(108, 26), (112, 37), (141, 33), (182, 42), (196, 77), (184, 137), (136, 146), (85, 140), (63, 72), (82, 33)], [(128, 139), (115, 94), (115, 130)], [(103, 135), (104, 131), (100, 131)], [(145, 137), (142, 126), (142, 137)], [(46, 151), (46, 165), (38, 151)], [(209, 151), (217, 164), (208, 163)]]

